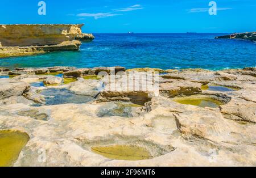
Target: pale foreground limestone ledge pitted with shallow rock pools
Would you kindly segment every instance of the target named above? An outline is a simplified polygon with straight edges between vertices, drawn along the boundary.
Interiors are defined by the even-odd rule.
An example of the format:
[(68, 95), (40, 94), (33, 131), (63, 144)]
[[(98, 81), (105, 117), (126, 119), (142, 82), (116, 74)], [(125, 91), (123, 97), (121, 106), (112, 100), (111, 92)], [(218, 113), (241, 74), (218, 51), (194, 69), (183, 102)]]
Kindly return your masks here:
[(256, 166), (255, 67), (115, 70), (158, 71), (160, 96), (106, 91), (109, 67), (0, 68), (0, 134), (24, 138), (0, 164)]

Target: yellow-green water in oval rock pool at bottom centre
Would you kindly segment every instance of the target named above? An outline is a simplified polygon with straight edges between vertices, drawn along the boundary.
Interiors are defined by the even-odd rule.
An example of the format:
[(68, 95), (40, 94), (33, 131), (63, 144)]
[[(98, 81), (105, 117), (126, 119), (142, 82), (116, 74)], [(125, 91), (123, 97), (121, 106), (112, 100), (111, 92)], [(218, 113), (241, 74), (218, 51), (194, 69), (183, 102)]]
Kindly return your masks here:
[(92, 147), (91, 150), (109, 159), (118, 160), (144, 160), (151, 159), (148, 150), (133, 145), (114, 145), (106, 147)]

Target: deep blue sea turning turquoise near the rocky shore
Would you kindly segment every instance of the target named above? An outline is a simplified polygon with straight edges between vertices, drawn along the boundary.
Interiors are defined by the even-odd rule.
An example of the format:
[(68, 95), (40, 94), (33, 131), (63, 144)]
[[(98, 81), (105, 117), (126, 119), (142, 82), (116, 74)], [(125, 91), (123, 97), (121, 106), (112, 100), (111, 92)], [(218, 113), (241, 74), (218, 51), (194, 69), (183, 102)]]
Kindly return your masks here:
[(214, 39), (224, 33), (94, 34), (80, 51), (0, 59), (5, 67), (124, 66), (220, 70), (256, 66), (256, 43)]

